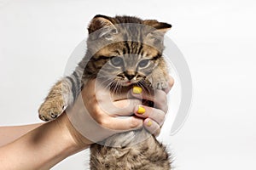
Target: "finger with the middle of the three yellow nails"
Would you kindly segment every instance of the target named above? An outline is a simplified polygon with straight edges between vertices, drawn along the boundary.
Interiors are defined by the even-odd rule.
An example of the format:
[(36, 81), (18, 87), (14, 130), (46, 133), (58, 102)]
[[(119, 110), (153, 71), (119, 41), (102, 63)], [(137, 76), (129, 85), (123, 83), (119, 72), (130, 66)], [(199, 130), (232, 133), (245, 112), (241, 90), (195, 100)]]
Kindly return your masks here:
[(153, 107), (148, 107), (146, 105), (137, 105), (135, 107), (134, 113), (138, 117), (150, 118), (154, 120), (154, 122), (157, 122), (160, 126), (164, 123), (166, 116), (164, 111), (155, 109)]

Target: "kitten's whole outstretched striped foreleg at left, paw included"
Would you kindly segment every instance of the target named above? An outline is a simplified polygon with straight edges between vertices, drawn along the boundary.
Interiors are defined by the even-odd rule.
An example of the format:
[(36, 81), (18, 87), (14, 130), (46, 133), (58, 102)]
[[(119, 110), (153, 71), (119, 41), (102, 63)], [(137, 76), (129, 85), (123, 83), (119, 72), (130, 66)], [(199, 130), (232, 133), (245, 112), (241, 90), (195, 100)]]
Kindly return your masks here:
[(55, 83), (38, 110), (40, 119), (53, 120), (61, 115), (67, 105), (73, 105), (73, 101), (81, 90), (79, 75), (78, 71), (74, 71), (70, 77), (64, 77)]

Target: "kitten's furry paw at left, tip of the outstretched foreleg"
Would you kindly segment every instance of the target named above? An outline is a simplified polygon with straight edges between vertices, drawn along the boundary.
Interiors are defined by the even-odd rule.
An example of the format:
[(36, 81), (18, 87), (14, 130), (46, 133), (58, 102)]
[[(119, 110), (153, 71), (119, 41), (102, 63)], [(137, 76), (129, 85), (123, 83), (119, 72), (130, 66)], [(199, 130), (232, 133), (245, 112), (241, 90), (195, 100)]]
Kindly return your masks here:
[(38, 110), (39, 118), (43, 121), (51, 121), (61, 115), (63, 110), (64, 105), (62, 97), (58, 99), (47, 99)]

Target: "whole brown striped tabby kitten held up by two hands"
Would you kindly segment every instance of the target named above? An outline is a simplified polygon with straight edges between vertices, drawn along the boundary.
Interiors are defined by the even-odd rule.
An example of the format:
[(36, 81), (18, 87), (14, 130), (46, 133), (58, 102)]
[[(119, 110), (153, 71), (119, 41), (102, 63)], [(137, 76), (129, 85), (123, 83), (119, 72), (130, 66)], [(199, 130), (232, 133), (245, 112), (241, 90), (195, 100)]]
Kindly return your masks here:
[[(163, 38), (171, 25), (137, 17), (96, 15), (88, 28), (87, 52), (69, 77), (51, 88), (39, 108), (44, 121), (55, 119), (66, 106), (72, 106), (86, 80), (103, 77), (110, 90), (142, 86), (145, 89), (167, 88), (168, 73)], [(147, 137), (145, 139), (144, 137)], [(144, 138), (139, 144), (131, 139)], [(145, 129), (118, 133), (101, 142), (121, 147), (92, 144), (90, 169), (167, 170), (171, 161), (166, 148)]]

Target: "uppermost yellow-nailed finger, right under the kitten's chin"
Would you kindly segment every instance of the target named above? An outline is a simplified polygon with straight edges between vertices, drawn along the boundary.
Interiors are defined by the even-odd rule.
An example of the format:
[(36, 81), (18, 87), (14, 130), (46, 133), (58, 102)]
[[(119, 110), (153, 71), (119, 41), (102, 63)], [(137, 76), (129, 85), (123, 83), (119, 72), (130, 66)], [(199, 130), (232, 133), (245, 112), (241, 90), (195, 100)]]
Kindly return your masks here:
[(154, 102), (154, 106), (164, 112), (168, 110), (166, 93), (162, 90), (154, 90), (154, 95), (141, 91), (140, 94), (132, 93), (138, 99), (147, 99)]

